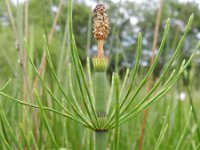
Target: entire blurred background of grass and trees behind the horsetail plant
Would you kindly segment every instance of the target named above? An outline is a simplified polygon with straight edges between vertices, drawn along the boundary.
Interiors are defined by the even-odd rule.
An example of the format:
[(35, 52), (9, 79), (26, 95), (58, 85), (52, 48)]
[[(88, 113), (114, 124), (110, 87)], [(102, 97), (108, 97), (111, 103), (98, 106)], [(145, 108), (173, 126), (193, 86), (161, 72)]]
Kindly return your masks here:
[[(97, 3), (97, 1), (91, 0), (91, 3)], [(137, 33), (140, 31), (143, 35), (142, 61), (137, 75), (138, 82), (134, 83), (137, 87), (150, 66), (159, 3), (158, 1), (141, 4), (129, 1), (114, 3), (110, 0), (104, 0), (103, 3), (108, 8), (111, 28), (105, 44), (106, 55), (110, 58), (108, 83), (111, 83), (113, 71), (119, 72), (120, 79), (124, 79), (126, 68), (134, 66)], [(51, 101), (51, 96), (44, 92), (42, 84), (37, 81), (34, 70), (28, 63), (27, 56), (29, 56), (34, 60), (39, 70), (45, 70), (42, 71), (43, 79), (61, 102), (66, 105), (52, 77), (49, 65), (44, 65), (44, 68), (40, 67), (44, 57), (43, 34), (45, 34), (48, 37), (50, 53), (58, 78), (67, 93), (73, 97), (70, 93), (70, 82), (73, 83), (73, 89), (76, 89), (78, 85), (73, 66), (72, 75), (69, 73), (71, 57), (67, 5), (67, 0), (30, 0), (28, 3), (20, 4), (14, 4), (9, 0), (0, 1), (0, 87), (10, 81), (3, 92), (23, 99), (25, 102), (38, 103), (34, 95), (34, 89), (37, 89), (42, 97), (41, 103), (43, 105), (58, 108)], [(200, 39), (200, 8), (198, 4), (168, 0), (162, 2), (161, 11), (157, 46), (161, 43), (164, 25), (168, 17), (171, 18), (171, 28), (164, 52), (153, 72), (153, 81), (157, 80), (163, 67), (169, 61), (192, 13), (194, 21), (191, 30), (179, 53), (179, 58), (173, 64), (173, 68), (180, 66), (183, 59), (189, 58)], [(93, 57), (96, 53), (96, 42), (92, 35), (91, 13), (91, 7), (84, 1), (73, 2), (73, 31), (86, 73), (87, 56)], [(28, 48), (24, 38), (27, 40)], [(200, 126), (199, 79), (200, 51), (198, 50), (191, 66), (184, 72), (173, 89), (148, 109), (143, 149), (156, 149), (158, 145), (158, 149), (166, 150), (200, 149), (200, 134), (198, 132)], [(138, 96), (138, 101), (144, 93), (146, 93), (145, 87)], [(75, 94), (80, 97), (78, 90)], [(193, 103), (192, 111), (195, 110), (196, 118), (190, 110), (191, 101)], [(73, 150), (94, 148), (92, 131), (59, 115), (50, 112), (45, 112), (45, 115), (42, 115), (42, 113), (44, 112), (24, 107), (0, 96), (0, 149), (8, 149), (5, 143), (11, 144), (14, 149), (53, 149), (56, 147), (55, 145), (60, 149)], [(141, 113), (120, 127), (120, 150), (138, 147), (142, 120), (143, 114)], [(108, 145), (110, 149), (113, 148), (113, 135), (113, 131), (111, 131)]]

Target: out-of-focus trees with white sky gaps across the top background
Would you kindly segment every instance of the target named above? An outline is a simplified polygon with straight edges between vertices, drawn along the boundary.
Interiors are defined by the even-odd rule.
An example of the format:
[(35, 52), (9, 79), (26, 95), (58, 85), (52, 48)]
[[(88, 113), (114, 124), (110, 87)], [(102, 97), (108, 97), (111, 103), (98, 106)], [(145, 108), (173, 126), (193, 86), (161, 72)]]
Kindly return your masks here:
[[(35, 61), (39, 65), (40, 58), (43, 53), (42, 45), (42, 34), (48, 35), (53, 23), (55, 13), (58, 9), (57, 0), (49, 1), (36, 1), (30, 0), (29, 10), (28, 10), (28, 40), (33, 38), (33, 49), (35, 55)], [(153, 41), (154, 26), (156, 21), (157, 13), (157, 3), (152, 1), (152, 3), (144, 4), (135, 4), (132, 2), (126, 3), (113, 3), (112, 1), (104, 1), (104, 3), (109, 6), (108, 13), (110, 16), (110, 34), (108, 41), (106, 42), (106, 50), (110, 52), (109, 56), (111, 58), (111, 70), (114, 68), (114, 63), (116, 58), (118, 59), (118, 65), (120, 65), (120, 70), (124, 71), (124, 66), (132, 66), (135, 60), (135, 48), (136, 48), (136, 35), (138, 31), (141, 31), (143, 34), (143, 61), (145, 63), (149, 62), (149, 57), (151, 54), (151, 47)], [(12, 4), (12, 3), (11, 3)], [(11, 74), (8, 64), (11, 66), (17, 65), (17, 50), (15, 48), (16, 39), (14, 37), (13, 30), (11, 28), (9, 14), (6, 9), (5, 1), (1, 1), (0, 5), (0, 45), (1, 51), (0, 54), (0, 76), (1, 78), (7, 78), (4, 74)], [(17, 17), (17, 6), (12, 6), (12, 13), (15, 18), (16, 25), (19, 20)], [(23, 8), (25, 6), (23, 5)], [(173, 51), (177, 42), (179, 41), (180, 35), (184, 30), (184, 25), (190, 16), (194, 14), (195, 19), (192, 24), (192, 30), (190, 36), (185, 43), (183, 48), (182, 56), (186, 56), (191, 53), (191, 48), (193, 48), (194, 43), (198, 40), (196, 35), (200, 32), (200, 10), (198, 5), (195, 3), (178, 3), (177, 1), (163, 1), (162, 7), (162, 16), (161, 16), (161, 25), (160, 33), (158, 37), (158, 45), (161, 42), (162, 31), (164, 23), (168, 17), (171, 18), (171, 29), (170, 35), (168, 37), (168, 42), (166, 45), (166, 50), (163, 53), (162, 59), (160, 60), (160, 65), (158, 66), (155, 76), (159, 75), (160, 68), (163, 67), (165, 61), (170, 57), (171, 52)], [(24, 14), (25, 12), (23, 12)], [(74, 2), (73, 7), (73, 30), (74, 35), (77, 41), (77, 47), (79, 54), (83, 62), (87, 56), (87, 35), (88, 35), (88, 19), (92, 15), (92, 10), (86, 4)], [(136, 24), (131, 23), (131, 18), (137, 18)], [(24, 21), (24, 18), (23, 18)], [(51, 53), (53, 56), (53, 61), (57, 63), (59, 57), (57, 53), (61, 51), (61, 45), (65, 30), (65, 24), (67, 22), (67, 1), (64, 1), (58, 23), (55, 27), (55, 33), (53, 35), (53, 40), (50, 43)], [(24, 29), (24, 26), (23, 26)], [(20, 29), (17, 29), (20, 32)], [(89, 30), (89, 32), (91, 29)], [(24, 34), (24, 33), (22, 33)], [(91, 41), (90, 51), (91, 55), (94, 55), (95, 51), (95, 41), (92, 36), (89, 38)], [(114, 41), (114, 42), (113, 42)], [(117, 42), (120, 41), (120, 42)], [(5, 54), (9, 59), (6, 59)], [(117, 55), (117, 56), (116, 56)], [(187, 57), (187, 56), (186, 56)], [(199, 58), (198, 58), (199, 59)], [(9, 62), (8, 62), (9, 60)], [(196, 65), (198, 66), (198, 65)], [(15, 68), (15, 67), (14, 67)]]

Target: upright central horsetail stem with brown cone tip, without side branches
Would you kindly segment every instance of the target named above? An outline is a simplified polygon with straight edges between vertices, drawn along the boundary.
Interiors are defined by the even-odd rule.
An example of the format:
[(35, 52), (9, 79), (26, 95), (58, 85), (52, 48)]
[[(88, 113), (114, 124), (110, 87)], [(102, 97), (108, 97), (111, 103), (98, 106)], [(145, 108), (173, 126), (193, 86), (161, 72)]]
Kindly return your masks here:
[(93, 58), (94, 83), (95, 83), (95, 110), (99, 121), (99, 128), (95, 131), (96, 149), (102, 150), (107, 147), (107, 130), (103, 129), (107, 121), (107, 89), (106, 70), (108, 59), (104, 55), (103, 43), (108, 35), (108, 16), (105, 6), (98, 4), (94, 11), (94, 37), (98, 43), (97, 56)]

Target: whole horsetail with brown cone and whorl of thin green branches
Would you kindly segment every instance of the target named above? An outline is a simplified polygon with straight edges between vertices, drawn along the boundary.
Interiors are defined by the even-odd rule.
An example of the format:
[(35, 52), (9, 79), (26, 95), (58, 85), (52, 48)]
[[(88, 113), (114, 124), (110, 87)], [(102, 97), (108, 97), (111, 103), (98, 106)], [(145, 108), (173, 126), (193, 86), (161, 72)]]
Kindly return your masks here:
[[(94, 37), (98, 44), (97, 55), (92, 59), (93, 67), (94, 67), (94, 80), (92, 80), (90, 70), (88, 70), (89, 77), (86, 78), (82, 63), (79, 59), (78, 51), (76, 48), (76, 42), (73, 35), (73, 28), (72, 28), (73, 27), (72, 26), (72, 0), (68, 0), (68, 31), (69, 31), (69, 43), (70, 43), (71, 61), (72, 61), (72, 64), (69, 65), (69, 71), (70, 71), (69, 72), (69, 80), (70, 80), (69, 91), (70, 93), (72, 93), (71, 97), (67, 93), (68, 91), (64, 89), (63, 85), (59, 81), (58, 75), (56, 74), (56, 71), (55, 71), (51, 56), (50, 56), (47, 39), (44, 36), (44, 46), (46, 50), (50, 73), (52, 73), (53, 77), (55, 78), (58, 89), (60, 93), (62, 94), (63, 98), (66, 100), (67, 106), (64, 105), (62, 103), (62, 100), (58, 98), (57, 95), (55, 95), (55, 93), (52, 91), (51, 88), (49, 88), (48, 84), (44, 81), (43, 77), (38, 73), (38, 70), (33, 63), (33, 60), (29, 57), (29, 62), (32, 65), (33, 70), (35, 71), (35, 74), (39, 78), (42, 86), (44, 87), (46, 92), (50, 95), (51, 100), (54, 103), (56, 103), (61, 108), (62, 111), (58, 110), (58, 108), (44, 106), (44, 104), (41, 103), (41, 97), (37, 89), (35, 90), (35, 99), (36, 99), (36, 102), (38, 102), (37, 104), (27, 103), (26, 101), (16, 99), (4, 93), (3, 90), (5, 89), (5, 87), (8, 85), (10, 81), (8, 81), (5, 84), (5, 86), (3, 86), (3, 88), (0, 89), (1, 96), (4, 96), (22, 105), (39, 109), (43, 118), (45, 119), (45, 125), (48, 129), (48, 134), (51, 137), (51, 140), (54, 144), (55, 149), (59, 149), (59, 146), (56, 139), (54, 138), (54, 135), (52, 134), (50, 125), (45, 115), (45, 111), (51, 111), (53, 113), (56, 113), (68, 119), (71, 119), (83, 125), (84, 127), (89, 128), (92, 131), (94, 131), (96, 150), (107, 149), (109, 131), (111, 131), (112, 129), (115, 129), (114, 130), (115, 138), (114, 138), (112, 147), (114, 147), (114, 149), (117, 150), (119, 135), (120, 135), (119, 133), (120, 125), (124, 124), (130, 119), (133, 119), (140, 112), (146, 109), (148, 106), (155, 103), (162, 96), (164, 96), (172, 88), (172, 86), (176, 83), (176, 81), (182, 75), (184, 70), (191, 63), (191, 60), (194, 57), (196, 50), (200, 46), (200, 42), (198, 42), (189, 60), (188, 61), (183, 60), (181, 66), (177, 70), (171, 71), (172, 63), (175, 61), (177, 55), (181, 51), (184, 41), (186, 39), (186, 36), (189, 32), (191, 23), (193, 21), (193, 15), (191, 15), (188, 20), (187, 26), (185, 28), (185, 32), (182, 35), (181, 40), (177, 48), (175, 49), (172, 57), (170, 58), (169, 63), (165, 65), (162, 75), (156, 81), (152, 89), (146, 95), (143, 95), (142, 99), (140, 99), (139, 101), (136, 101), (138, 94), (142, 91), (141, 89), (146, 84), (148, 77), (154, 71), (158, 63), (158, 59), (160, 55), (162, 54), (162, 51), (164, 50), (167, 35), (170, 28), (170, 20), (168, 19), (166, 22), (162, 42), (159, 47), (158, 53), (155, 57), (155, 60), (152, 66), (147, 71), (143, 80), (138, 84), (138, 86), (134, 88), (134, 82), (136, 80), (137, 72), (140, 66), (140, 57), (141, 57), (141, 50), (142, 50), (141, 33), (138, 34), (137, 57), (136, 57), (136, 64), (134, 68), (132, 70), (127, 69), (126, 76), (124, 78), (124, 82), (121, 88), (119, 84), (120, 83), (119, 75), (118, 73), (114, 73), (112, 77), (111, 87), (109, 89), (107, 87), (107, 76), (106, 76), (106, 70), (108, 68), (109, 63), (108, 63), (108, 58), (107, 56), (105, 56), (104, 49), (103, 49), (104, 42), (109, 32), (109, 22), (108, 22), (108, 16), (106, 14), (105, 6), (103, 4), (97, 4), (97, 6), (95, 7), (93, 11), (93, 16), (94, 16), (93, 18)], [(28, 46), (27, 46), (27, 49), (28, 49)], [(87, 67), (88, 69), (90, 69), (89, 59), (87, 60), (87, 62), (88, 62)], [(74, 83), (71, 81), (72, 68), (75, 71), (75, 79), (77, 81), (78, 90), (80, 91), (79, 94), (76, 94), (77, 92), (75, 92), (73, 89)], [(127, 87), (127, 91), (124, 93), (126, 89), (125, 87)], [(110, 94), (108, 94), (108, 91), (110, 91)], [(147, 99), (149, 100), (146, 101)], [(111, 106), (114, 106), (114, 107), (111, 107)], [(163, 130), (164, 129), (165, 128), (163, 128)], [(5, 146), (8, 149), (12, 149), (13, 145), (9, 145), (10, 143), (8, 143), (4, 139), (3, 136), (0, 136), (0, 138), (2, 139)], [(14, 145), (16, 145), (17, 147), (19, 147), (19, 149), (21, 149), (22, 145), (19, 143), (17, 144), (16, 140), (14, 141)], [(160, 141), (156, 145), (156, 148), (159, 147), (161, 141), (162, 141), (162, 135), (160, 136)], [(27, 143), (27, 145), (28, 147), (30, 146), (29, 143)]]

